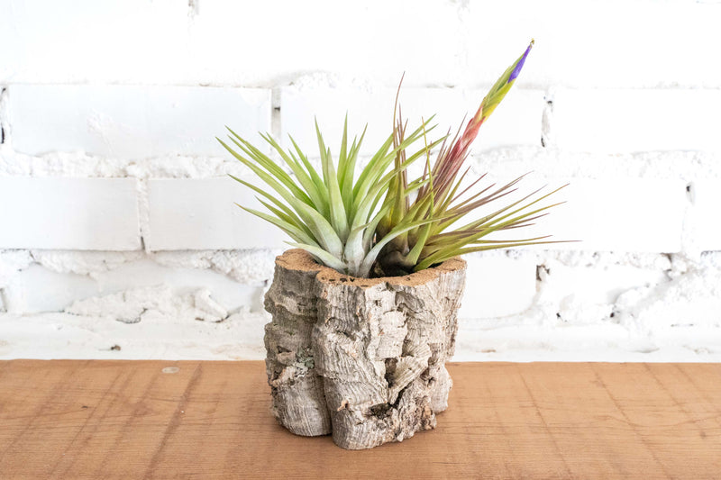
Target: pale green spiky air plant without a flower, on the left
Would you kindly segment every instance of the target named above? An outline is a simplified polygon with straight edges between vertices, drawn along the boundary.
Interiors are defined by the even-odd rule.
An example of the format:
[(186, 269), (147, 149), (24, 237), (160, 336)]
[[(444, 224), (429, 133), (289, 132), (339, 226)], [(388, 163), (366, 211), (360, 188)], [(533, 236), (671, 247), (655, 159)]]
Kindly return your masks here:
[[(292, 137), (293, 148), (284, 150), (269, 134), (261, 135), (286, 163), (295, 179), (231, 129), (228, 129), (229, 138), (240, 151), (223, 140), (217, 140), (275, 191), (273, 195), (259, 186), (231, 176), (258, 193), (258, 200), (269, 213), (238, 206), (285, 231), (294, 240), (288, 242), (290, 245), (306, 249), (324, 265), (351, 276), (369, 276), (380, 250), (388, 241), (427, 222), (409, 218), (407, 222), (397, 222), (382, 238), (376, 234), (376, 226), (388, 213), (393, 201), (393, 195), (387, 193), (388, 184), (415, 159), (422, 158), (440, 142), (437, 140), (424, 145), (406, 161), (397, 163), (395, 168), (388, 171), (398, 151), (403, 150), (405, 155), (407, 148), (424, 137), (429, 122), (424, 122), (407, 138), (395, 143), (393, 136), (389, 135), (365, 168), (360, 170), (357, 178), (354, 173), (365, 130), (360, 139), (356, 137), (352, 140), (349, 148), (347, 118), (343, 126), (337, 167), (331, 149), (325, 146), (323, 135), (315, 123), (321, 172), (313, 167)], [(422, 185), (423, 181), (411, 182), (407, 185), (407, 192), (413, 192)]]

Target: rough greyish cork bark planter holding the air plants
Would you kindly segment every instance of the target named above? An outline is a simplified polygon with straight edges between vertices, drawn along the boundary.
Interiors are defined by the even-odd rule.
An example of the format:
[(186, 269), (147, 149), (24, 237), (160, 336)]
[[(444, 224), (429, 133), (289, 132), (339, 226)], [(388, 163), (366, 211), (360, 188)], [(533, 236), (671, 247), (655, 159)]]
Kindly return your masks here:
[(372, 448), (434, 429), (448, 406), (466, 263), (355, 278), (305, 250), (276, 258), (265, 297), (271, 411), (287, 430)]

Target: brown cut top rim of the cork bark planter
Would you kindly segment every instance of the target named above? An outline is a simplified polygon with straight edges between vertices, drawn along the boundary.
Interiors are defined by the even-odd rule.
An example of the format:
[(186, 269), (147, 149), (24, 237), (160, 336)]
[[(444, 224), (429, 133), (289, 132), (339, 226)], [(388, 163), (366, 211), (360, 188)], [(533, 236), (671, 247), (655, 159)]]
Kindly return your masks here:
[(288, 249), (276, 257), (276, 264), (282, 265), (289, 270), (305, 272), (317, 272), (315, 278), (327, 283), (347, 283), (348, 285), (368, 288), (380, 284), (388, 285), (424, 285), (444, 272), (462, 270), (466, 267), (466, 261), (461, 257), (449, 258), (442, 264), (435, 267), (425, 268), (418, 272), (404, 276), (380, 276), (378, 278), (362, 278), (350, 276), (315, 261), (313, 256), (304, 249)]

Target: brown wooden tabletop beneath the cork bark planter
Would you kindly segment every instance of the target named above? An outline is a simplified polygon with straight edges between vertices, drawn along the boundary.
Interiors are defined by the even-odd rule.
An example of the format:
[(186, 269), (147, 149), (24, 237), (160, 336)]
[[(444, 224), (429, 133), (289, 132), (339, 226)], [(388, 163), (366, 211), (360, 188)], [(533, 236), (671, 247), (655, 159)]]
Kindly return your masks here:
[(0, 478), (721, 478), (721, 364), (466, 363), (438, 428), (296, 437), (261, 362), (0, 362)]

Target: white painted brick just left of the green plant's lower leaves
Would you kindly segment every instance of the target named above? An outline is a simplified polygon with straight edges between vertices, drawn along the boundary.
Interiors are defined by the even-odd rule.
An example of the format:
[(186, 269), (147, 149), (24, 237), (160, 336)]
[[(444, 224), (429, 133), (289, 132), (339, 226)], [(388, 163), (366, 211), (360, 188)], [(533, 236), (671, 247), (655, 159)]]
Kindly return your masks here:
[[(257, 182), (256, 178), (248, 181)], [(253, 192), (229, 177), (148, 182), (151, 250), (282, 249), (285, 234), (235, 203), (263, 210)]]

